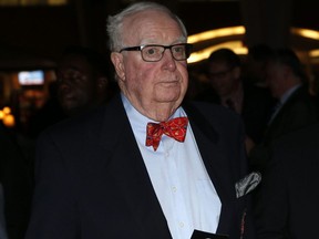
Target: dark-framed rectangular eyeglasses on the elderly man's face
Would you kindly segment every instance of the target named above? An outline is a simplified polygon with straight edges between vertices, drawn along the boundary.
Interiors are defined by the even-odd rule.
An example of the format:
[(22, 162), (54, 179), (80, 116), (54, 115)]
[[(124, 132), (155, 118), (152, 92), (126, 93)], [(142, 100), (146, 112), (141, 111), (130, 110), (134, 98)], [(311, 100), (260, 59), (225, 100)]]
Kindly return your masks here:
[(145, 44), (121, 49), (120, 53), (122, 51), (141, 51), (142, 59), (145, 62), (157, 62), (163, 58), (164, 51), (169, 49), (173, 58), (176, 61), (185, 61), (189, 58), (192, 48), (193, 45), (188, 43), (179, 43), (173, 45)]

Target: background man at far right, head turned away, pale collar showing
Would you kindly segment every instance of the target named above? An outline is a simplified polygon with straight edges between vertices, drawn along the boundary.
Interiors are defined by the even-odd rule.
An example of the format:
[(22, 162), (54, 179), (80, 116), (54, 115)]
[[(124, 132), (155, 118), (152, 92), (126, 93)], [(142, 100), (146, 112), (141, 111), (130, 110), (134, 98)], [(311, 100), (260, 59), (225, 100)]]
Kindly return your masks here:
[(318, 121), (307, 75), (297, 54), (290, 49), (275, 51), (267, 64), (267, 84), (277, 100), (260, 144), (249, 154), (253, 168), (264, 172), (269, 162), (269, 145), (278, 137)]

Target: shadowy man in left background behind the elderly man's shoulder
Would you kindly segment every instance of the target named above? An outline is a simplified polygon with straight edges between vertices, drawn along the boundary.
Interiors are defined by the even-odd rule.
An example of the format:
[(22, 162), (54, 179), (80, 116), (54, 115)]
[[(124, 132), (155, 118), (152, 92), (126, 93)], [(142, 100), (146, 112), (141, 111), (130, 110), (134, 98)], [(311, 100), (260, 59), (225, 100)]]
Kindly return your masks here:
[(49, 85), (47, 102), (30, 118), (32, 138), (65, 117), (106, 103), (115, 92), (110, 61), (93, 49), (66, 46), (55, 72), (56, 81)]

